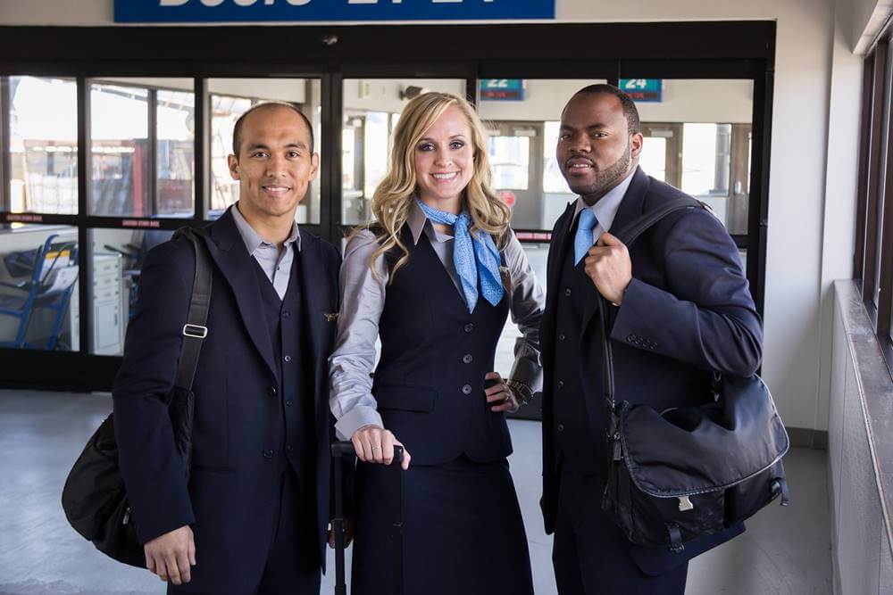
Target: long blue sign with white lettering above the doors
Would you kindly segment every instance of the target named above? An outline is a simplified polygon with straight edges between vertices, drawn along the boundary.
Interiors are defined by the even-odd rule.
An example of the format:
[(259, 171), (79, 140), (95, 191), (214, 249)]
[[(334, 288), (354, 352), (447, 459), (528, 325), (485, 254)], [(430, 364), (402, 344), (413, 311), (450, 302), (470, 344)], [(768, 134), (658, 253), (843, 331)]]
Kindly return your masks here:
[(115, 22), (554, 18), (555, 0), (114, 0)]

